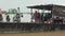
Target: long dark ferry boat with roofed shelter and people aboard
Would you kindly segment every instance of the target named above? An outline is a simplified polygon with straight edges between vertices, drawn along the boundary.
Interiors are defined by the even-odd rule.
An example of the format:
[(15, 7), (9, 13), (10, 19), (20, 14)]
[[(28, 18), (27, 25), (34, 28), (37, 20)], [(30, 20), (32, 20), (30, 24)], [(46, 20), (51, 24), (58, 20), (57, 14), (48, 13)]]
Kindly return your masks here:
[[(54, 31), (54, 30), (65, 30), (65, 6), (56, 4), (46, 4), (46, 5), (34, 5), (26, 6), (30, 8), (29, 13), (31, 15), (31, 22), (0, 22), (1, 29), (21, 30), (21, 31)], [(32, 10), (38, 10), (37, 21), (34, 22), (35, 16)], [(42, 13), (39, 13), (42, 10)], [(50, 13), (44, 13), (48, 11)], [(23, 13), (24, 14), (24, 13)], [(26, 20), (26, 19), (25, 19)]]

